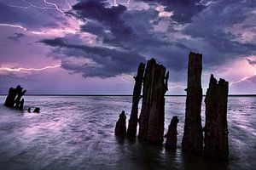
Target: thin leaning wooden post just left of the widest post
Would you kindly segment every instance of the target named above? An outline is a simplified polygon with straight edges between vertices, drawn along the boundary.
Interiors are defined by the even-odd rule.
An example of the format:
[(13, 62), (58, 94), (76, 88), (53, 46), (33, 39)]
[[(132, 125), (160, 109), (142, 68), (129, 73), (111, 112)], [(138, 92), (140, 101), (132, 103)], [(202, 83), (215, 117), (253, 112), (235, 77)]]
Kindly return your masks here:
[(143, 63), (140, 63), (140, 65), (137, 68), (137, 77), (134, 77), (135, 85), (133, 88), (131, 116), (129, 119), (129, 125), (126, 133), (126, 136), (128, 138), (136, 138), (136, 134), (137, 134), (138, 104), (141, 99), (144, 70), (145, 70), (145, 65)]

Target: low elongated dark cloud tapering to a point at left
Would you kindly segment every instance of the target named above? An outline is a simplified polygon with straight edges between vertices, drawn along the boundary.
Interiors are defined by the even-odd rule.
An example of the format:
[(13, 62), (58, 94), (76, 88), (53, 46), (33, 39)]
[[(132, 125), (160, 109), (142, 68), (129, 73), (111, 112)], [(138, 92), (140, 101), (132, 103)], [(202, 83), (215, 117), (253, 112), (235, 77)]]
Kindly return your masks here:
[(73, 45), (63, 38), (44, 39), (41, 42), (49, 46), (64, 48), (61, 53), (67, 58), (71, 56), (71, 53), (78, 58), (91, 59), (91, 62), (84, 65), (73, 65), (72, 59), (69, 62), (62, 60), (62, 68), (82, 73), (83, 77), (115, 77), (130, 74), (137, 70), (140, 62), (146, 62), (143, 56), (131, 51)]

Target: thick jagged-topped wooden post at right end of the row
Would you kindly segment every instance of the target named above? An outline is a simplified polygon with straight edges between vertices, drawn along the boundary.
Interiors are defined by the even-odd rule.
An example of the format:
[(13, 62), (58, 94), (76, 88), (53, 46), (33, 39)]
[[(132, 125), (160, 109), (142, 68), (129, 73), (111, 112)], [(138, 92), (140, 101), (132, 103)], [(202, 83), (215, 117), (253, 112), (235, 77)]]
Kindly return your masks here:
[(203, 157), (212, 160), (228, 160), (229, 139), (227, 122), (227, 103), (229, 82), (217, 80), (211, 75), (207, 89), (205, 145)]

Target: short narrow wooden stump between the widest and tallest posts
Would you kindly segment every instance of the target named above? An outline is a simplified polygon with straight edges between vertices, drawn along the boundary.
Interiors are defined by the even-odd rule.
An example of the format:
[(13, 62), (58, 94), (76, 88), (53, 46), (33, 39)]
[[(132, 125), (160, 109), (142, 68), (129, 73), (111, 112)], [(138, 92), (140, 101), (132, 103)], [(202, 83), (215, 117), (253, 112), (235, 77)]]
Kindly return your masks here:
[(172, 121), (166, 133), (166, 150), (176, 150), (177, 148), (177, 123), (179, 122), (177, 116), (172, 117)]

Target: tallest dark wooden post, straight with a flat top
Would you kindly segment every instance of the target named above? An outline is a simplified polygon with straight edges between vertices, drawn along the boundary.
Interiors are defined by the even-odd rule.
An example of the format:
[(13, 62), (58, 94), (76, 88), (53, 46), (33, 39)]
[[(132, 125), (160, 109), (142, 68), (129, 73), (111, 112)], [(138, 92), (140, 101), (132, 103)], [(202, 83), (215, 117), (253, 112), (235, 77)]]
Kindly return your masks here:
[(201, 71), (202, 55), (190, 52), (182, 149), (184, 152), (190, 152), (196, 155), (201, 155), (203, 148)]

